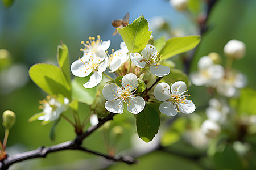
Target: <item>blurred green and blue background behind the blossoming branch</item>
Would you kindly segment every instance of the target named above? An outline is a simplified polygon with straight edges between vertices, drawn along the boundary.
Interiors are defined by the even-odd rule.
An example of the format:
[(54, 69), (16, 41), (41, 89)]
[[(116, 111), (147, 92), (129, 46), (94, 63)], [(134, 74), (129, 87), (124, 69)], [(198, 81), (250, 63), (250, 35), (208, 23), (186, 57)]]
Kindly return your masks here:
[[(220, 53), (225, 61), (223, 47), (226, 42), (231, 39), (241, 40), (247, 46), (246, 57), (235, 61), (234, 67), (245, 73), (249, 80), (248, 86), (255, 88), (255, 7), (254, 0), (218, 1), (208, 19), (209, 29), (196, 49), (191, 71), (196, 70), (198, 59), (210, 52)], [(202, 9), (204, 10), (204, 5)], [(187, 14), (175, 11), (165, 0), (23, 0), (15, 1), (9, 8), (0, 3), (0, 49), (7, 49), (11, 56), (10, 65), (0, 73), (0, 113), (10, 109), (17, 116), (7, 144), (10, 155), (75, 138), (71, 125), (64, 120), (57, 126), (55, 141), (49, 139), (51, 125), (42, 126), (39, 121), (28, 123), (27, 120), (32, 114), (40, 112), (38, 101), (46, 96), (28, 77), (29, 67), (39, 62), (56, 65), (56, 49), (60, 41), (67, 44), (71, 62), (82, 56), (79, 50), (82, 47), (80, 41), (86, 41), (89, 36), (101, 35), (102, 40), (111, 40), (110, 48), (119, 49), (122, 38), (112, 36), (115, 29), (111, 23), (114, 19), (123, 18), (126, 12), (130, 13), (130, 23), (143, 15), (148, 20), (155, 39), (161, 36), (169, 39), (171, 35), (166, 33), (167, 29), (176, 32), (176, 36), (199, 33), (196, 24)], [(166, 24), (165, 31), (156, 30), (160, 21)], [(179, 69), (184, 69), (179, 57), (172, 58), (172, 61)], [(190, 92), (196, 96), (193, 101), (197, 106), (208, 104), (209, 96), (206, 91), (192, 86)], [(88, 106), (84, 106), (84, 109), (88, 109)], [(125, 118), (131, 118), (129, 121), (135, 122), (131, 115), (122, 119)], [(136, 136), (134, 126), (124, 124), (124, 127), (129, 135), (120, 139), (119, 151), (140, 143), (139, 140), (132, 142), (130, 138), (131, 134)], [(3, 135), (2, 127), (1, 139)], [(101, 131), (86, 139), (85, 144), (88, 148), (105, 152)], [(129, 166), (121, 163), (109, 169), (202, 169), (192, 160), (160, 151), (146, 154), (140, 160), (139, 165)], [(16, 164), (13, 169), (97, 169), (97, 161), (95, 156), (84, 152), (62, 151), (50, 154), (44, 159)]]

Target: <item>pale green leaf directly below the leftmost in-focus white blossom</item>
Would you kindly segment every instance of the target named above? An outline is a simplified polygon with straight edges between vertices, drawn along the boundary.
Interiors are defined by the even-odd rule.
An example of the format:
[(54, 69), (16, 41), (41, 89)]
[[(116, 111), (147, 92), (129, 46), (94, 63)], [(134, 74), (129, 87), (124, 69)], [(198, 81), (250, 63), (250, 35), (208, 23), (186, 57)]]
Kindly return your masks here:
[(88, 82), (90, 76), (85, 78), (76, 77), (72, 80), (72, 98), (77, 99), (79, 102), (92, 104), (94, 98), (96, 97), (97, 87), (84, 88), (82, 84)]

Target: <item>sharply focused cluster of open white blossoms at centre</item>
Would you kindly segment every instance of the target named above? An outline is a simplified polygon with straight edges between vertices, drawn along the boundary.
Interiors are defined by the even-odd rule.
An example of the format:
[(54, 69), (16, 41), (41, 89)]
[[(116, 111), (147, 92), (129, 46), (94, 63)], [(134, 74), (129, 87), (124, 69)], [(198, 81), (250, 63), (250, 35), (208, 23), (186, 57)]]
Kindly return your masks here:
[[(123, 113), (127, 105), (127, 111), (133, 114), (138, 114), (143, 111), (147, 98), (143, 93), (144, 74), (152, 73), (159, 78), (170, 73), (170, 67), (160, 65), (163, 61), (155, 46), (146, 45), (140, 53), (130, 53), (125, 42), (121, 42), (120, 49), (109, 54), (107, 49), (110, 46), (110, 41), (97, 40), (94, 37), (89, 37), (89, 41), (82, 41), (85, 49), (83, 56), (77, 59), (71, 65), (73, 75), (79, 77), (90, 76), (90, 80), (84, 84), (85, 88), (92, 88), (100, 84), (102, 74), (106, 75), (112, 82), (105, 83), (102, 95), (105, 97), (105, 108), (109, 112)], [(115, 73), (115, 76), (123, 76), (120, 78), (120, 83), (116, 84), (115, 80), (104, 71), (109, 67), (110, 73)], [(143, 82), (140, 84), (139, 82)], [(147, 80), (148, 82), (148, 80)], [(145, 83), (144, 83), (145, 84)], [(118, 86), (119, 85), (119, 86)], [(147, 84), (144, 85), (145, 88)], [(143, 88), (137, 91), (137, 88)], [(175, 116), (179, 112), (192, 113), (195, 111), (195, 105), (192, 100), (188, 100), (185, 92), (187, 86), (184, 82), (175, 82), (171, 86), (167, 83), (159, 83), (154, 90), (155, 98), (159, 101), (164, 101), (159, 110), (168, 116)], [(147, 99), (148, 100), (148, 99)]]

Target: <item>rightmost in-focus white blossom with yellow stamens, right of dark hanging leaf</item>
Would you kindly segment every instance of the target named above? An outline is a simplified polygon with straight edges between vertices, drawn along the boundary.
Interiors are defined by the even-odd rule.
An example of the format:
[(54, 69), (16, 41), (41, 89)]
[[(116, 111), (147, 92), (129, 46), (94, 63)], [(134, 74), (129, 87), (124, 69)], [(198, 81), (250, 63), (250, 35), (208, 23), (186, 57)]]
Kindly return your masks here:
[(169, 84), (158, 83), (154, 89), (154, 95), (157, 100), (163, 101), (159, 106), (160, 112), (167, 116), (175, 116), (179, 112), (193, 113), (196, 106), (192, 100), (187, 100), (187, 96), (190, 95), (185, 94), (188, 92), (186, 89), (186, 83), (179, 81), (172, 84), (170, 93)]

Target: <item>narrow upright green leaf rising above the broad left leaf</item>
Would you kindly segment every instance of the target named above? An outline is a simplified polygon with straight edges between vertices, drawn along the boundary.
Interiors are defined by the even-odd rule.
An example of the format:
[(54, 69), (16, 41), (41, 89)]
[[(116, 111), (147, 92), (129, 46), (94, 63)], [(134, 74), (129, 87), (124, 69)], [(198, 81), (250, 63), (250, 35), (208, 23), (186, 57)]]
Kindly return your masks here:
[(57, 47), (57, 61), (68, 83), (71, 84), (68, 47), (63, 43)]

